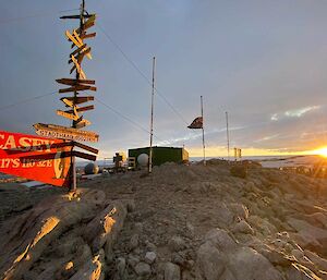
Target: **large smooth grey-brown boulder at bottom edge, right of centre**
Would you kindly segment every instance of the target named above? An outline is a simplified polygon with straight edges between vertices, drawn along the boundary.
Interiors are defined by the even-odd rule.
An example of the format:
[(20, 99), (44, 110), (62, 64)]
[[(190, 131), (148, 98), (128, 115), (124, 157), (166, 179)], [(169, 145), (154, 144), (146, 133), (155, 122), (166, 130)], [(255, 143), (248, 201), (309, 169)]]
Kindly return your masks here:
[(267, 258), (253, 248), (237, 244), (225, 230), (211, 230), (204, 242), (197, 251), (203, 279), (282, 280)]

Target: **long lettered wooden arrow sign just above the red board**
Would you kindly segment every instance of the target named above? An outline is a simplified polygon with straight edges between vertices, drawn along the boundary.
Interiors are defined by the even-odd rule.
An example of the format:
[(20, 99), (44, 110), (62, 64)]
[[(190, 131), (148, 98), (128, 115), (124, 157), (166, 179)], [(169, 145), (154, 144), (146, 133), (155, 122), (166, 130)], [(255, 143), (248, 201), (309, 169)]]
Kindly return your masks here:
[(99, 139), (99, 135), (90, 131), (81, 131), (73, 127), (44, 123), (36, 123), (33, 126), (40, 136), (82, 142), (98, 142)]

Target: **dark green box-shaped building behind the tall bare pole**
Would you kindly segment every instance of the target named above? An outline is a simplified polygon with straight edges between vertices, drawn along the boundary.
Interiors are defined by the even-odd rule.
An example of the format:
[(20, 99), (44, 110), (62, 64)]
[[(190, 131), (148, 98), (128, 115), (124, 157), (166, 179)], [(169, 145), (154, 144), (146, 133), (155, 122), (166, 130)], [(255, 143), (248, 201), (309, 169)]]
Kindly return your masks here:
[[(141, 154), (149, 155), (149, 147), (129, 149), (129, 157), (134, 157), (136, 165)], [(153, 165), (160, 166), (165, 162), (189, 162), (189, 153), (184, 148), (153, 147)]]

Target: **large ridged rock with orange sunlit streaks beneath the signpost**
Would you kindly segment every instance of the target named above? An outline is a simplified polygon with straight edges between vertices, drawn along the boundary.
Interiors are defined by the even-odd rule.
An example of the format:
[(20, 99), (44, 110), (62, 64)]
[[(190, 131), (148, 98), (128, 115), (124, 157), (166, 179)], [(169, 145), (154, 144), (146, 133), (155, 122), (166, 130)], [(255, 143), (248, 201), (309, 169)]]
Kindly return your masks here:
[(125, 216), (122, 203), (98, 190), (46, 199), (2, 229), (0, 273), (21, 279), (41, 268), (43, 279), (104, 279)]

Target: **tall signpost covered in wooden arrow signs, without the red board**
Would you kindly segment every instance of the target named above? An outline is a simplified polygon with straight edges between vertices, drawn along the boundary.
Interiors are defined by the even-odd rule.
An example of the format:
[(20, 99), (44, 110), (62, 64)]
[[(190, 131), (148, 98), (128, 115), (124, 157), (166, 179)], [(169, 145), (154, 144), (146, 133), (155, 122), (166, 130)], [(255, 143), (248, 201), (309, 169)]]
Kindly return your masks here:
[[(99, 135), (81, 129), (90, 124), (90, 122), (81, 114), (81, 112), (94, 109), (94, 105), (81, 107), (82, 104), (93, 101), (94, 96), (83, 95), (81, 92), (92, 90), (96, 92), (94, 80), (87, 80), (83, 69), (82, 62), (84, 58), (92, 59), (90, 47), (85, 42), (86, 39), (94, 38), (96, 33), (87, 33), (90, 27), (95, 25), (96, 14), (88, 14), (85, 9), (85, 0), (82, 0), (80, 14), (64, 15), (62, 20), (77, 20), (78, 27), (72, 32), (66, 31), (65, 37), (71, 42), (72, 52), (69, 56), (69, 64), (72, 65), (70, 73), (74, 73), (74, 78), (59, 78), (57, 83), (65, 85), (65, 88), (59, 89), (59, 94), (72, 93), (73, 96), (62, 97), (60, 100), (69, 110), (57, 110), (57, 114), (72, 121), (71, 127), (36, 123), (34, 127), (36, 133), (41, 136), (50, 136), (53, 138), (61, 138), (66, 141), (66, 145), (71, 146), (71, 165), (70, 165), (70, 191), (76, 191), (76, 161), (75, 157), (81, 157), (88, 160), (96, 160), (96, 156), (73, 150), (75, 147), (85, 149), (93, 154), (98, 154), (98, 150), (86, 146), (83, 142), (97, 142)], [(70, 141), (70, 142), (68, 142)]]

